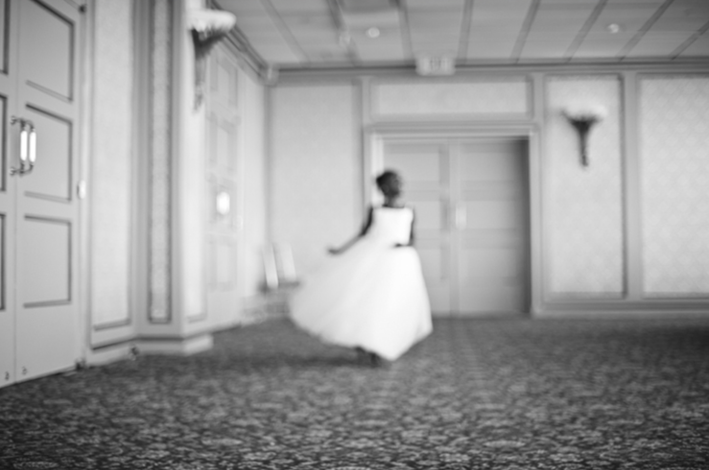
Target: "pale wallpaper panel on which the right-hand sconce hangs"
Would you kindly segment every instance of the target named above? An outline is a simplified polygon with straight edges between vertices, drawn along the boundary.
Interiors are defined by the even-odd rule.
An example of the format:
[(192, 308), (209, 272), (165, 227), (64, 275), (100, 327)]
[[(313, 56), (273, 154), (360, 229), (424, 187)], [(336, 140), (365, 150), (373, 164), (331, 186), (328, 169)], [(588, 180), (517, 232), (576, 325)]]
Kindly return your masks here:
[[(561, 298), (619, 297), (624, 291), (623, 164), (617, 76), (550, 76), (546, 85), (545, 262), (547, 293)], [(607, 110), (588, 139), (562, 115), (570, 105)]]

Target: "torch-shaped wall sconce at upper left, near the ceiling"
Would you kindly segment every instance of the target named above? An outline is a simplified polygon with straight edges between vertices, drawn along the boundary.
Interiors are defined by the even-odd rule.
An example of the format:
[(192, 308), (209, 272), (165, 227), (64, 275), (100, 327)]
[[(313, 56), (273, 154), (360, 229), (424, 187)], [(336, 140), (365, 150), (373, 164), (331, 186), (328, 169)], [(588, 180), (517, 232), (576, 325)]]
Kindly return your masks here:
[(204, 99), (207, 56), (212, 47), (234, 27), (236, 16), (228, 11), (190, 9), (187, 11), (187, 23), (194, 43), (194, 109), (196, 110)]

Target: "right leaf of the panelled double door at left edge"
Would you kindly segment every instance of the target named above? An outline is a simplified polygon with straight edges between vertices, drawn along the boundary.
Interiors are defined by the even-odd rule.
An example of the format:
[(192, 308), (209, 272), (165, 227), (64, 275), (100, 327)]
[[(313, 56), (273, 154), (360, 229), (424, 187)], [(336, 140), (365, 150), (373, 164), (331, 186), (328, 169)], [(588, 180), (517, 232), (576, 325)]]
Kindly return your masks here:
[(79, 206), (77, 50), (81, 13), (63, 0), (18, 2), (16, 114), (36, 130), (33, 171), (16, 185), (17, 379), (74, 366), (79, 351), (77, 299)]

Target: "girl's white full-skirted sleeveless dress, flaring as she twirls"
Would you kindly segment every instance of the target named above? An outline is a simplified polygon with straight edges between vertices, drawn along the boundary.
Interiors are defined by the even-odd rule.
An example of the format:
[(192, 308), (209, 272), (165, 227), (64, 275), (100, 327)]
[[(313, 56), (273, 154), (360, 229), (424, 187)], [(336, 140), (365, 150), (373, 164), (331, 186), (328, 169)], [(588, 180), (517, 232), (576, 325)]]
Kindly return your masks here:
[(376, 207), (372, 224), (345, 253), (294, 292), (293, 321), (321, 340), (395, 360), (432, 331), (430, 303), (411, 236), (409, 207)]

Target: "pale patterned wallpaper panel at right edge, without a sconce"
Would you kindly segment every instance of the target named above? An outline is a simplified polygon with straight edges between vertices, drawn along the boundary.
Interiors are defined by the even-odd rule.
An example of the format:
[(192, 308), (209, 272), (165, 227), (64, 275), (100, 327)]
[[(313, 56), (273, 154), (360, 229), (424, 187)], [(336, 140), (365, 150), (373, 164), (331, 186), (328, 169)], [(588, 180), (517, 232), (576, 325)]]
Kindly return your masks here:
[(709, 294), (709, 77), (640, 80), (647, 297)]

